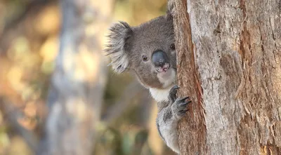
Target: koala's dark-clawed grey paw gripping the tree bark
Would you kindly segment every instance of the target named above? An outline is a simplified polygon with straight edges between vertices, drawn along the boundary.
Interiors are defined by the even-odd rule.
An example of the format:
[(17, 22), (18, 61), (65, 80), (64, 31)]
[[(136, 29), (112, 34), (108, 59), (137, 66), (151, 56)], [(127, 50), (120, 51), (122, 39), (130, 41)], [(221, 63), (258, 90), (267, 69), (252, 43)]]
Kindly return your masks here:
[(178, 86), (174, 86), (171, 88), (169, 92), (169, 100), (172, 103), (171, 109), (173, 113), (178, 117), (181, 118), (185, 112), (188, 111), (187, 105), (191, 102), (190, 97), (183, 97), (183, 98), (177, 98), (176, 93), (178, 91)]

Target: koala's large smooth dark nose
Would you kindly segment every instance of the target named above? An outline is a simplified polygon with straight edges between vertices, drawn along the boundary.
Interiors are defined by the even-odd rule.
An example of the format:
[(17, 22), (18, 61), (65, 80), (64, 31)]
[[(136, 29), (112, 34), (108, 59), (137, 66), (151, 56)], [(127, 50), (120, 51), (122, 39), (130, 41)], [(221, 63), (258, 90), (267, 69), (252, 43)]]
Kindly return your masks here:
[(169, 58), (163, 50), (156, 50), (152, 53), (152, 62), (155, 67), (164, 67), (166, 63), (169, 63)]

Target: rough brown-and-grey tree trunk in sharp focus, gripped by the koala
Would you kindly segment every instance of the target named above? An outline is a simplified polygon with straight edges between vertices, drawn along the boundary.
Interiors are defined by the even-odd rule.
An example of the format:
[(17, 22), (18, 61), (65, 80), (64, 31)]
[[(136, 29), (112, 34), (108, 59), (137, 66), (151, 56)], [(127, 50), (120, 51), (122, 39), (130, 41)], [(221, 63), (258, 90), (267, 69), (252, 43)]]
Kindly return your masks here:
[(281, 1), (171, 4), (181, 154), (281, 154)]

